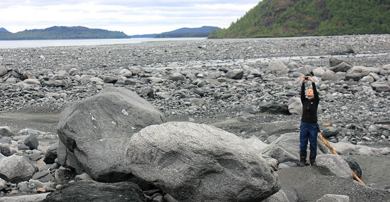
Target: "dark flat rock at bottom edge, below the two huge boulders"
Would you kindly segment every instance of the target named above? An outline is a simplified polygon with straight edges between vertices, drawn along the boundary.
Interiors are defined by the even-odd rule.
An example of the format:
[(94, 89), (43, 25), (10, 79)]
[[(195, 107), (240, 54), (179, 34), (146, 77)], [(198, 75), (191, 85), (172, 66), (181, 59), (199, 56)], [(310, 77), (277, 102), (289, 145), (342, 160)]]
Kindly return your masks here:
[(81, 180), (66, 184), (60, 190), (51, 192), (42, 202), (54, 201), (143, 202), (146, 200), (141, 188), (132, 182), (101, 183)]

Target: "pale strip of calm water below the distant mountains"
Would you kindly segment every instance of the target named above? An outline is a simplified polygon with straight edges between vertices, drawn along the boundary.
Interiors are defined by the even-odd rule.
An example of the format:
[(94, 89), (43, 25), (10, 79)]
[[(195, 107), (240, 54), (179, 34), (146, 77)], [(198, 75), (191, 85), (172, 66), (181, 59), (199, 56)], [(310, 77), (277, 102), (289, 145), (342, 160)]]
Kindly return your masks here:
[(111, 44), (136, 44), (141, 42), (165, 42), (181, 40), (205, 40), (206, 38), (130, 38), (103, 40), (15, 40), (1, 41), (0, 48), (38, 48), (50, 46), (95, 46)]

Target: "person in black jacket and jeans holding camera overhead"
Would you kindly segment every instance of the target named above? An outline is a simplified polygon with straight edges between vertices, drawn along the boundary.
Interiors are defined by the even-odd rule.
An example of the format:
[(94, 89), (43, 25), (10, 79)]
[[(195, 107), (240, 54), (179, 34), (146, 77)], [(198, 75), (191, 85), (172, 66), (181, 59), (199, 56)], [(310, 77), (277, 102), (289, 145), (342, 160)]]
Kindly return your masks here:
[[(311, 81), (312, 89), (308, 89), (305, 95), (305, 81)], [(307, 164), (307, 143), (310, 142), (309, 160), (312, 166), (315, 164), (317, 157), (317, 134), (320, 126), (317, 124), (317, 108), (320, 103), (315, 83), (311, 76), (302, 76), (302, 88), (300, 91), (300, 100), (302, 102), (302, 119), (300, 124), (300, 166), (304, 167)]]

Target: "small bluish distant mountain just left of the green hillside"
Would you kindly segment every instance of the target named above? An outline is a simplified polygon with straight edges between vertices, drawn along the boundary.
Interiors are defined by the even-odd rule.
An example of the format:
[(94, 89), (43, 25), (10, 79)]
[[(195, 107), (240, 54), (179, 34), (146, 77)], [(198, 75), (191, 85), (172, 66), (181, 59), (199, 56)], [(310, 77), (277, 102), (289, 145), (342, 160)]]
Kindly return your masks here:
[(181, 28), (174, 31), (157, 34), (155, 38), (188, 38), (188, 37), (207, 37), (214, 29), (219, 27), (203, 26), (198, 28)]

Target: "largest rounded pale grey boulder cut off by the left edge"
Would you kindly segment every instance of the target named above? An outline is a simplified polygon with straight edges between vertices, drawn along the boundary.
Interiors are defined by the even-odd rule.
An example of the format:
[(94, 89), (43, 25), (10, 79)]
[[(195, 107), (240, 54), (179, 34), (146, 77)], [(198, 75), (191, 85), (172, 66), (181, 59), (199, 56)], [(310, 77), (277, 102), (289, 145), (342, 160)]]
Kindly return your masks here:
[(0, 160), (0, 176), (8, 182), (28, 181), (35, 171), (34, 164), (23, 156), (8, 156)]

